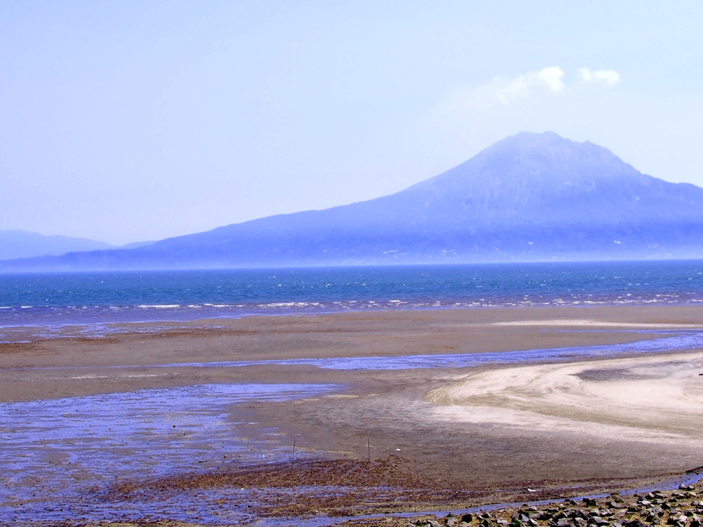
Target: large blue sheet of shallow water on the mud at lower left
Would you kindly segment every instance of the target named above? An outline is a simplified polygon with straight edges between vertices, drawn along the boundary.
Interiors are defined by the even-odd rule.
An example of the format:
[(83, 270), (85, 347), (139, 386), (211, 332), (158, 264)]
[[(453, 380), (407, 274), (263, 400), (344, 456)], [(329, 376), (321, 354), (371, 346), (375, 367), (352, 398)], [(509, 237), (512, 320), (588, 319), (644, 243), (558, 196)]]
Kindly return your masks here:
[(287, 458), (287, 446), (243, 441), (238, 423), (228, 418), (231, 405), (312, 396), (336, 387), (202, 384), (0, 403), (0, 524), (115, 521), (134, 507), (101, 502), (89, 490), (134, 476), (213, 469), (233, 459)]

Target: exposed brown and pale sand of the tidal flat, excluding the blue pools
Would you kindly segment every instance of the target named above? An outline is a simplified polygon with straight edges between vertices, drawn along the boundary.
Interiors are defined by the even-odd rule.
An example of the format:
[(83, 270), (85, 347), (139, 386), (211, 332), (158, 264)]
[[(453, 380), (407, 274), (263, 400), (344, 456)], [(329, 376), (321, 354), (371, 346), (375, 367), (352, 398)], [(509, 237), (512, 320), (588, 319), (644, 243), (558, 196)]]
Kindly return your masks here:
[[(35, 338), (32, 328), (16, 330), (30, 342), (0, 345), (0, 402), (22, 404), (204, 384), (335, 385), (314, 396), (252, 399), (223, 406), (219, 419), (228, 422), (238, 444), (256, 445), (257, 455), (278, 453), (283, 464), (254, 463), (259, 476), (252, 474), (254, 457), (215, 462), (221, 450), (212, 445), (199, 450), (204, 459), (212, 455), (212, 463), (195, 470), (184, 457), (175, 457), (169, 474), (158, 476), (157, 481), (164, 482), (160, 486), (153, 474), (139, 473), (139, 464), (129, 475), (110, 474), (117, 476), (110, 486), (116, 495), (134, 493), (137, 488), (161, 500), (164, 493), (171, 493), (169, 499), (177, 502), (179, 495), (203, 488), (231, 490), (236, 485), (244, 490), (246, 481), (262, 486), (262, 481), (273, 481), (272, 471), (288, 467), (288, 450), (295, 438), (297, 460), (285, 474), (288, 488), (295, 488), (297, 497), (278, 493), (274, 500), (259, 495), (247, 516), (250, 520), (269, 514), (264, 502), (280, 505), (276, 514), (283, 516), (314, 510), (342, 514), (347, 509), (335, 508), (335, 503), (344, 502), (338, 493), (333, 493), (334, 500), (325, 501), (325, 493), (315, 486), (302, 487), (315, 479), (314, 474), (337, 474), (328, 480), (337, 482), (332, 486), (343, 486), (345, 479), (339, 474), (356, 470), (344, 463), (354, 464), (359, 474), (363, 467), (375, 467), (373, 477), (378, 481), (389, 478), (378, 475), (378, 467), (386, 467), (382, 471), (395, 474), (389, 481), (398, 489), (381, 496), (370, 492), (373, 477), (359, 476), (361, 483), (354, 487), (349, 476), (347, 485), (352, 490), (347, 498), (356, 503), (354, 514), (636, 486), (703, 465), (698, 432), (703, 429), (703, 376), (699, 376), (703, 350), (648, 353), (636, 344), (671, 337), (671, 332), (703, 330), (703, 307), (385, 311), (162, 326), (160, 332), (140, 333), (148, 328), (129, 325), (122, 328), (124, 332), (101, 339), (46, 340)], [(627, 343), (633, 344), (622, 346)], [(221, 365), (578, 346), (612, 346), (618, 352), (606, 358), (562, 358), (558, 363), (451, 367), (445, 362), (444, 367), (392, 370)], [(0, 432), (8, 434), (11, 426), (0, 424)], [(207, 437), (198, 441), (208, 442)], [(60, 466), (63, 450), (56, 442), (41, 448), (49, 449), (47, 457), (53, 449)], [(320, 462), (326, 464), (315, 471), (314, 463)], [(147, 465), (145, 460), (143, 466)], [(76, 473), (74, 481), (90, 481), (90, 472), (96, 469), (100, 467)], [(304, 480), (299, 479), (301, 474)], [(366, 497), (358, 494), (361, 487)], [(222, 499), (242, 508), (253, 499), (247, 493), (235, 494), (224, 493), (228, 497)], [(434, 498), (419, 503), (419, 495)], [(119, 505), (122, 498), (114, 499)], [(290, 507), (306, 500), (311, 504), (307, 508)], [(10, 501), (4, 503), (12, 507)], [(286, 503), (288, 507), (283, 507)], [(188, 519), (176, 519), (183, 518)]]

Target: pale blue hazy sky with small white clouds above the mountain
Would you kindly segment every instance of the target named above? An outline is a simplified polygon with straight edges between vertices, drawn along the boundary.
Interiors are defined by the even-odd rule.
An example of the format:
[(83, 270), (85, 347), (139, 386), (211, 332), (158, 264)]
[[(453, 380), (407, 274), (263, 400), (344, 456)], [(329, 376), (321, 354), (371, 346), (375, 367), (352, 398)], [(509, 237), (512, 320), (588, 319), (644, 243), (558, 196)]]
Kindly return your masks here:
[(0, 230), (394, 193), (518, 131), (703, 186), (703, 3), (0, 0)]

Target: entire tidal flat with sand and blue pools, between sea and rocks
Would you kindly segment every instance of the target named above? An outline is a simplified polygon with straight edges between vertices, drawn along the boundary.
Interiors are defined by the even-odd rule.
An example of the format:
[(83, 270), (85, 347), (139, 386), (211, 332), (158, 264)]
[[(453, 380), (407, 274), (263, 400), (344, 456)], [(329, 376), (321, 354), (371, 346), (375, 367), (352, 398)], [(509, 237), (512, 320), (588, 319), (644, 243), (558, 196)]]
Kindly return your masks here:
[(0, 524), (326, 525), (676, 486), (703, 465), (703, 307), (161, 326), (13, 329)]

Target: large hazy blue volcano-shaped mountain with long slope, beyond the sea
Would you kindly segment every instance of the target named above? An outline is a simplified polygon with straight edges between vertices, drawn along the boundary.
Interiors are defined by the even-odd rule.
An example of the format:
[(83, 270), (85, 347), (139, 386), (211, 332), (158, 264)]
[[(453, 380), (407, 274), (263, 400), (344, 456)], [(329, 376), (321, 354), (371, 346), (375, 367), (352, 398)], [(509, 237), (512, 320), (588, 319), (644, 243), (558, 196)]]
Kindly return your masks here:
[(703, 257), (703, 188), (522, 132), (399, 193), (0, 271)]

